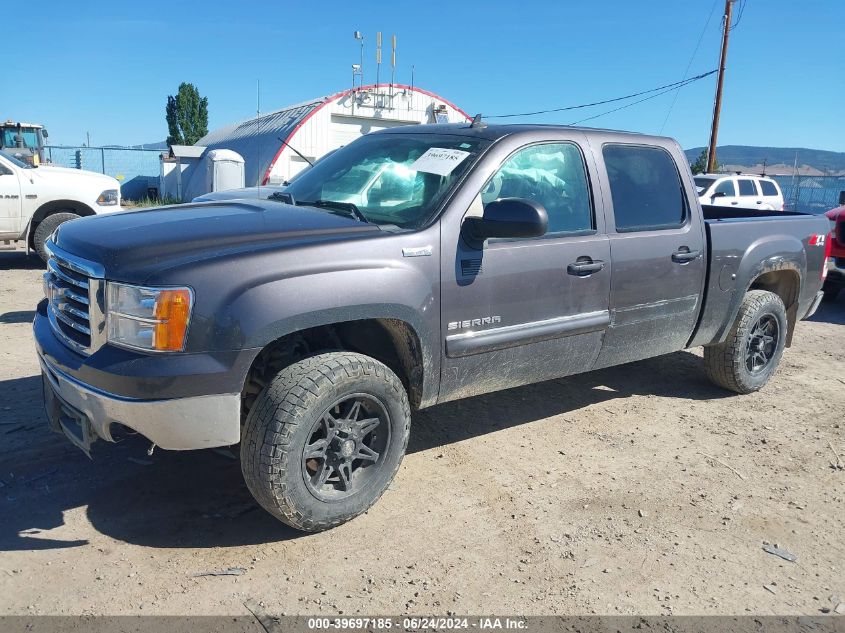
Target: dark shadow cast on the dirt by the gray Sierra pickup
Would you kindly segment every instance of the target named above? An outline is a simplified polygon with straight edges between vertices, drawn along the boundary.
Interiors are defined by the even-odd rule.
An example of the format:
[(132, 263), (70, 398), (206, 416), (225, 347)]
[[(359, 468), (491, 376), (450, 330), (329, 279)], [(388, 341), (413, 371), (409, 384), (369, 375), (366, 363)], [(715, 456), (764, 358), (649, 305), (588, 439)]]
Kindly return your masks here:
[[(728, 395), (706, 382), (699, 358), (678, 352), (427, 409), (414, 416), (409, 452), (633, 394)], [(40, 399), (39, 377), (0, 381), (0, 551), (85, 545), (63, 527), (64, 513), (83, 507), (101, 533), (148, 547), (210, 548), (300, 536), (253, 502), (234, 459), (237, 447), (229, 456), (227, 449), (158, 450), (148, 457), (148, 443), (133, 437), (95, 444), (89, 460), (48, 431)]]

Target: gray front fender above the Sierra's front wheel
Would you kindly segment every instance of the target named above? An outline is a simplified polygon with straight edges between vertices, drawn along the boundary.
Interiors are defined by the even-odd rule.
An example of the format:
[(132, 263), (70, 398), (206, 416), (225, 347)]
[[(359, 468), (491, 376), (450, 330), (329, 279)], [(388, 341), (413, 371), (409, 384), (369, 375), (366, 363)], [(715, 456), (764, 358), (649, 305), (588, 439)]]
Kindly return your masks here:
[[(189, 351), (259, 349), (294, 332), (363, 319), (393, 319), (416, 334), (423, 398), (437, 392), (439, 257), (404, 258), (424, 235), (390, 236), (205, 262), (180, 275), (194, 289)], [(397, 244), (398, 242), (398, 244)], [(367, 255), (365, 255), (367, 254)], [(396, 256), (398, 254), (398, 257)], [(178, 272), (178, 271), (174, 271)], [(173, 278), (174, 281), (176, 277)]]

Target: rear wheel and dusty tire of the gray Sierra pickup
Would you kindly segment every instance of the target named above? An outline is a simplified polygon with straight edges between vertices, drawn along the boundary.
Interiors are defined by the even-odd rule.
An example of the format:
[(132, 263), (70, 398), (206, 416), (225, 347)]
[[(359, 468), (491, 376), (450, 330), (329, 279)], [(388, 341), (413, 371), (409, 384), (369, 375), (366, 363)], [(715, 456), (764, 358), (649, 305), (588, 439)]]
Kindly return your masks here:
[(765, 290), (749, 291), (725, 342), (704, 348), (707, 377), (737, 393), (757, 391), (780, 363), (787, 327), (780, 297)]

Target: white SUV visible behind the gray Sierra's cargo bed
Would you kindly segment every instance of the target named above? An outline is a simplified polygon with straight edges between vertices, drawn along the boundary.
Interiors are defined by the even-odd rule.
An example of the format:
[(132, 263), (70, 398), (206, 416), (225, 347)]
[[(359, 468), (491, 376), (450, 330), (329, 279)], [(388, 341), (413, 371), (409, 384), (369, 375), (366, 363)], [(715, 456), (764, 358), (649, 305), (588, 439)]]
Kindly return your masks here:
[(695, 188), (701, 204), (783, 211), (780, 187), (765, 176), (701, 174), (695, 177)]

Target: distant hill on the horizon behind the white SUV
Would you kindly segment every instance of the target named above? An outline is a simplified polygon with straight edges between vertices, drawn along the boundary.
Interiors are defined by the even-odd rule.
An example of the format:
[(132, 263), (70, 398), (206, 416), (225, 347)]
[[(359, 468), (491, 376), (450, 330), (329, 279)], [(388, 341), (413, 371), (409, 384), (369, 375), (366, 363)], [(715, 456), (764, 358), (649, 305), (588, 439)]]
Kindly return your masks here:
[[(705, 148), (685, 150), (690, 163), (695, 162)], [(716, 157), (723, 171), (760, 172), (763, 163), (766, 173), (791, 175), (798, 156), (798, 173), (808, 176), (845, 175), (845, 152), (829, 152), (806, 147), (754, 147), (750, 145), (720, 145)]]

